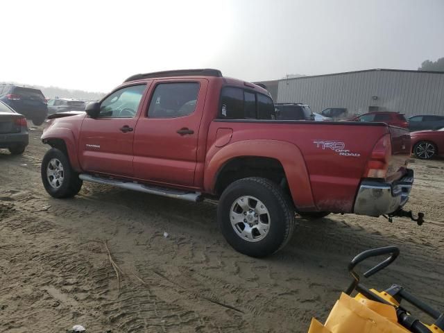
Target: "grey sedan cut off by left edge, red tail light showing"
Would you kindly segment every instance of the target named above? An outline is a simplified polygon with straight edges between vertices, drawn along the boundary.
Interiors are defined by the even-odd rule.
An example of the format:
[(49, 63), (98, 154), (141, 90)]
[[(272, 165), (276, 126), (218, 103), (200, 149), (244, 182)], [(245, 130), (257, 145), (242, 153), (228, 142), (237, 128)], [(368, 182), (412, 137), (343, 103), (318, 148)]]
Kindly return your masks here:
[(22, 154), (28, 146), (26, 118), (0, 101), (0, 148), (8, 148), (12, 155)]

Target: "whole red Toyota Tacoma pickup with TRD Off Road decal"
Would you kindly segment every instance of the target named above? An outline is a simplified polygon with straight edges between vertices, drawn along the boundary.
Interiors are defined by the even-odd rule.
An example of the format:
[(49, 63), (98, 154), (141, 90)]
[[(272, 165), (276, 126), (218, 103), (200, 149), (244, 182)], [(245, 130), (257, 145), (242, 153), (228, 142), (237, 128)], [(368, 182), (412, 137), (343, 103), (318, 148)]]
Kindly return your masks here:
[(216, 69), (137, 74), (86, 112), (49, 121), (42, 181), (56, 198), (89, 181), (217, 199), (225, 239), (255, 257), (286, 244), (295, 212), (395, 216), (407, 202), (407, 130), (274, 112), (266, 89)]

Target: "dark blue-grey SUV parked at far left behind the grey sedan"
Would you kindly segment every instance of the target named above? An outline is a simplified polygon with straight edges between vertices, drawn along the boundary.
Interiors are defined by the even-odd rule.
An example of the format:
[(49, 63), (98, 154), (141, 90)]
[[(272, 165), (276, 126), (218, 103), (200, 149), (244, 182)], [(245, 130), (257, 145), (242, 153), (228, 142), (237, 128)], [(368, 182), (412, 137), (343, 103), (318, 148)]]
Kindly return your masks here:
[(48, 115), (46, 99), (40, 89), (3, 84), (0, 85), (0, 101), (31, 119), (36, 126), (42, 125)]

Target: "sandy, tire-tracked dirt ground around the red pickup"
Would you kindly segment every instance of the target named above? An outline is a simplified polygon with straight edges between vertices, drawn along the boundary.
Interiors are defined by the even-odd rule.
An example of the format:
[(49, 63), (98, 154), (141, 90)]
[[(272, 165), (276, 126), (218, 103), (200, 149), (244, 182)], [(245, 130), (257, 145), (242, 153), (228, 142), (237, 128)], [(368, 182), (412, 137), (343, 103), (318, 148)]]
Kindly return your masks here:
[(388, 245), (400, 258), (366, 283), (402, 284), (444, 311), (443, 160), (411, 164), (407, 209), (425, 212), (425, 225), (300, 221), (286, 248), (253, 259), (225, 243), (211, 203), (89, 183), (76, 198), (51, 198), (41, 132), (22, 156), (0, 151), (0, 332), (307, 332), (348, 286), (348, 261)]

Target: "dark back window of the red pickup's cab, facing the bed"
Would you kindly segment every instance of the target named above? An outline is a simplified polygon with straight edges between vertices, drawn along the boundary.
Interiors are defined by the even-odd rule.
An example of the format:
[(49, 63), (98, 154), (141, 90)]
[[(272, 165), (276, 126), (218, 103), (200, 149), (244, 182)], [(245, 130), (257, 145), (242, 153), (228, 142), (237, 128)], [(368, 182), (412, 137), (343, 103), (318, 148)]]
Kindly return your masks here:
[(221, 119), (275, 119), (273, 100), (237, 87), (223, 87), (219, 109)]

